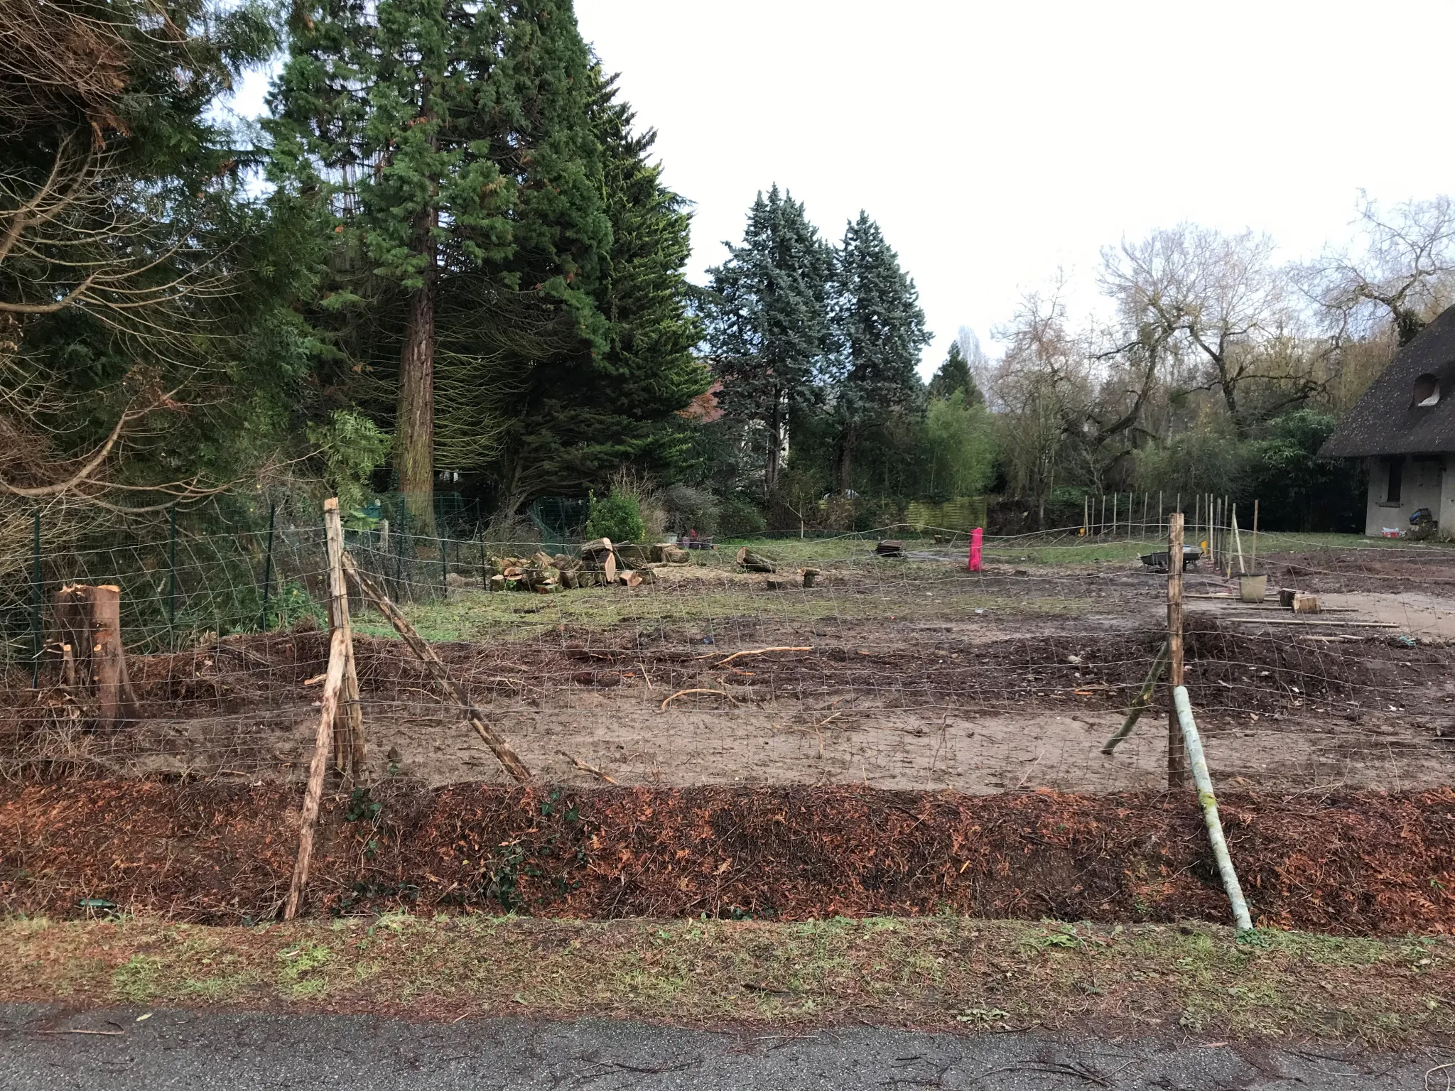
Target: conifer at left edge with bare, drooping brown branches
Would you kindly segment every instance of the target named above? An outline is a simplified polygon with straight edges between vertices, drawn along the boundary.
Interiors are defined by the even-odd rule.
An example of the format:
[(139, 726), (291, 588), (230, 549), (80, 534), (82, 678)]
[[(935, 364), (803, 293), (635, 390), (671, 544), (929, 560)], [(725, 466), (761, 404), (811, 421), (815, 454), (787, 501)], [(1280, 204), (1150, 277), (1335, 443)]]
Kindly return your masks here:
[(106, 448), (52, 493), (65, 518), (159, 518), (295, 423), (291, 224), (263, 215), (211, 112), (276, 35), (259, 4), (202, 0), (15, 0), (4, 19), (0, 503)]

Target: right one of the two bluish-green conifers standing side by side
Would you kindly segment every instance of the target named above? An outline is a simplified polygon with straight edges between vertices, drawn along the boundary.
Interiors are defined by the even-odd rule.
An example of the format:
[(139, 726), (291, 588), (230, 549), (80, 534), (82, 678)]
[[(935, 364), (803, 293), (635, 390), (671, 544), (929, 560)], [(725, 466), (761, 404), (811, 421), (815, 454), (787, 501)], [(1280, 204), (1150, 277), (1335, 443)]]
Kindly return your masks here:
[(920, 352), (930, 342), (920, 294), (879, 224), (850, 223), (837, 255), (834, 329), (840, 371), (832, 387), (838, 487), (853, 486), (854, 448), (867, 428), (917, 407)]

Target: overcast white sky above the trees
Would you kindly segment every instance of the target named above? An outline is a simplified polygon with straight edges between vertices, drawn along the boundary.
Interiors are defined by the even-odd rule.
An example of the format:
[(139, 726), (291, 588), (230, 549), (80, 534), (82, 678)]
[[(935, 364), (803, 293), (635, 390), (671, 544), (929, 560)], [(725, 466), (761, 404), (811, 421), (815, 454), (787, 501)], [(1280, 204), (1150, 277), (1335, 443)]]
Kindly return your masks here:
[[(1452, 0), (576, 0), (695, 202), (694, 279), (758, 189), (834, 240), (869, 211), (936, 335), (988, 340), (1064, 266), (1195, 220), (1286, 256), (1455, 191)], [(239, 106), (260, 96), (244, 92)]]

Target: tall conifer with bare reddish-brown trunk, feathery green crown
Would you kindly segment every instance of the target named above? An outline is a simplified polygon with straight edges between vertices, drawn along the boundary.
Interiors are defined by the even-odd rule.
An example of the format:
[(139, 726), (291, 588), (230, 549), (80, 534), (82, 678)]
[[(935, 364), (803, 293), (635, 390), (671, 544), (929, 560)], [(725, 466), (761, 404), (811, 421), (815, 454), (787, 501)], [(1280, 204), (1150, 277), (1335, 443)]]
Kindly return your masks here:
[(524, 172), (496, 163), (502, 118), (519, 112), (514, 73), (498, 71), (505, 45), (493, 4), (307, 0), (272, 96), (279, 180), (317, 193), (333, 220), (329, 310), (381, 287), (402, 297), (394, 470), (422, 527), (434, 519), (439, 281), (515, 241)]

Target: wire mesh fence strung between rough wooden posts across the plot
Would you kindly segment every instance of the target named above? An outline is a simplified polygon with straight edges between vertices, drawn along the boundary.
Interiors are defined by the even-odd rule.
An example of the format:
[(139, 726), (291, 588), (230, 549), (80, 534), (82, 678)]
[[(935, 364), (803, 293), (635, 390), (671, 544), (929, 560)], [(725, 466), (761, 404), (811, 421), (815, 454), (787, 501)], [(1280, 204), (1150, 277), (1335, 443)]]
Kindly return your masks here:
[[(1231, 508), (1208, 506), (1189, 513), (1186, 681), (1219, 784), (1448, 783), (1455, 551), (1336, 535), (1254, 546)], [(745, 570), (738, 543), (684, 550), (640, 564), (652, 575), (636, 586), (493, 580), (569, 564), (573, 550), (541, 556), (540, 541), (374, 524), (345, 544), (544, 781), (1116, 791), (1165, 784), (1164, 687), (1115, 755), (1101, 745), (1165, 639), (1167, 513), (988, 538), (981, 572), (963, 534), (886, 528), (749, 543), (774, 572)], [(889, 535), (905, 537), (885, 556)], [(1240, 557), (1267, 576), (1254, 601)], [(327, 660), (322, 522), (169, 527), (44, 551), (36, 572), (4, 614), (7, 777), (306, 774)], [(57, 650), (68, 583), (119, 588), (131, 692), (106, 729)], [(1292, 612), (1282, 591), (1320, 612)], [(356, 595), (351, 612), (367, 777), (502, 778), (388, 621)]]

